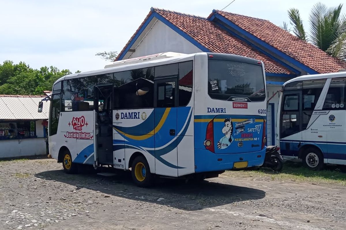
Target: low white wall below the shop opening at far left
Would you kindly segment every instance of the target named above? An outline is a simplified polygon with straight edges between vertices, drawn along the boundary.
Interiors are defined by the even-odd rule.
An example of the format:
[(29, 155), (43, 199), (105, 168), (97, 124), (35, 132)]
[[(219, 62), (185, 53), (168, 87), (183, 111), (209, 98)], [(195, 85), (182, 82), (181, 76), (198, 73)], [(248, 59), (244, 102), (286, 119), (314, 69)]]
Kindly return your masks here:
[(45, 138), (0, 140), (0, 158), (46, 154)]

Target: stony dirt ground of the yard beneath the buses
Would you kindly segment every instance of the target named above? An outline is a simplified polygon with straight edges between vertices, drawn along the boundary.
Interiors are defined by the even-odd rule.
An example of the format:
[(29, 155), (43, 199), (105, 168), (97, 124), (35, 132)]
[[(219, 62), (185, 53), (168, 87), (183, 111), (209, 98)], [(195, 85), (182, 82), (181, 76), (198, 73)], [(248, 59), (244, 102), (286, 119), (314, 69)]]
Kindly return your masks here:
[(54, 159), (2, 161), (0, 229), (346, 229), (343, 186), (231, 173), (143, 189), (129, 173), (68, 175)]

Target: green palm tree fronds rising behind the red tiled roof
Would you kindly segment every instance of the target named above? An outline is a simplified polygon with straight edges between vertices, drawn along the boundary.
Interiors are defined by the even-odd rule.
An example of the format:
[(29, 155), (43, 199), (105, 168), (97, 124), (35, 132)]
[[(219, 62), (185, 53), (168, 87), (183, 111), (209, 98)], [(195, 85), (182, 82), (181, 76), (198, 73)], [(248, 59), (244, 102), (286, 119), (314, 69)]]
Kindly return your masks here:
[(299, 10), (291, 8), (288, 15), (293, 33), (304, 41), (315, 44), (333, 57), (346, 59), (346, 16), (341, 14), (343, 4), (327, 8), (321, 2), (316, 3), (310, 12), (310, 36), (303, 27)]

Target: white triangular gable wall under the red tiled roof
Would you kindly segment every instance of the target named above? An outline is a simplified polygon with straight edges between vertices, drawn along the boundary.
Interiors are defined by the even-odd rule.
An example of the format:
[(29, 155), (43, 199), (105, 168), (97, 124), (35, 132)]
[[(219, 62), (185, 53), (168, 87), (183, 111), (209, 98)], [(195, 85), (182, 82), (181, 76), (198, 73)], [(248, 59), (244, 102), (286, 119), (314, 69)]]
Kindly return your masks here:
[(202, 50), (158, 20), (146, 36), (139, 41), (139, 44), (131, 48), (136, 49), (136, 52), (132, 53), (129, 58), (168, 51), (178, 53), (202, 52)]

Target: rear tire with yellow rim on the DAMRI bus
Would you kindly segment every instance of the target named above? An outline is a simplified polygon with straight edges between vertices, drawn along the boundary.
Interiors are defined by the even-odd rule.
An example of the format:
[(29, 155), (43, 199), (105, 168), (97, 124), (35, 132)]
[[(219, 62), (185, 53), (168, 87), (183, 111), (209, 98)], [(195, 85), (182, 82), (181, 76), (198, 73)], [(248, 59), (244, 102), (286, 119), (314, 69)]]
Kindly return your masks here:
[(153, 184), (154, 176), (144, 156), (138, 156), (132, 162), (132, 179), (138, 187), (149, 187)]

